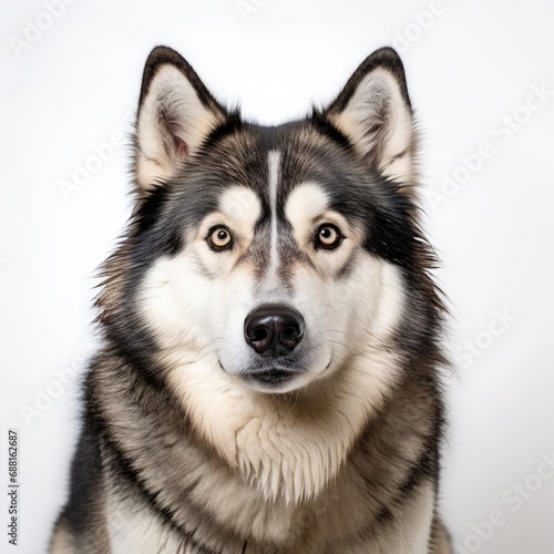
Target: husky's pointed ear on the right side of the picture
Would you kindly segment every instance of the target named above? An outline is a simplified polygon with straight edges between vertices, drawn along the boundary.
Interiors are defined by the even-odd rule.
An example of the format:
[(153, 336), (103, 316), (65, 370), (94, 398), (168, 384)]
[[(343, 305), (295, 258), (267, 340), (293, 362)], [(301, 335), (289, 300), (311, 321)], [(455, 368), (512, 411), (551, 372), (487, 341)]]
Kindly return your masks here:
[(372, 168), (400, 183), (413, 179), (413, 115), (394, 50), (382, 48), (367, 58), (324, 115)]

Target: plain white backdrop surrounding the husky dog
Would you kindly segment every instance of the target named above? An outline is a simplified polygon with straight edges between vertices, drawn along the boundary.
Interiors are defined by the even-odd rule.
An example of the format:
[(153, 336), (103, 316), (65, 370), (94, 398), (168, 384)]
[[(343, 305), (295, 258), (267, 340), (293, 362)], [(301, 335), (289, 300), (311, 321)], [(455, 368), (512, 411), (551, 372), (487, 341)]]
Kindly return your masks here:
[[(44, 552), (66, 493), (78, 384), (55, 371), (71, 380), (91, 351), (94, 270), (130, 213), (129, 146), (66, 198), (60, 183), (130, 132), (143, 63), (161, 43), (265, 123), (329, 101), (367, 54), (397, 45), (422, 133), (425, 228), (454, 317), (442, 512), (461, 553), (554, 552), (554, 476), (536, 476), (554, 456), (554, 3), (247, 0), (242, 11), (234, 0), (79, 0), (33, 34), (27, 20), (45, 28), (44, 13), (38, 0), (3, 2), (0, 18), (0, 389), (2, 433), (20, 432), (19, 552)], [(27, 47), (16, 40), (25, 32)], [(533, 86), (550, 95), (530, 99)], [(488, 158), (472, 156), (480, 148)], [(503, 524), (490, 532), (493, 511)], [(7, 541), (2, 531), (0, 551), (14, 551)]]

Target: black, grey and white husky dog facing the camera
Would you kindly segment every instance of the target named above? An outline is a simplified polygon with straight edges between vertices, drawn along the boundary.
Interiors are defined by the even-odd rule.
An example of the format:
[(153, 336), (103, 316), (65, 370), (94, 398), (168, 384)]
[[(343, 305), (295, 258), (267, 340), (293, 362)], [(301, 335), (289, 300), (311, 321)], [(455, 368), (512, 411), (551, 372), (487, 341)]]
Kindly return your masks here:
[(278, 126), (153, 50), (52, 553), (451, 552), (416, 156), (389, 48)]

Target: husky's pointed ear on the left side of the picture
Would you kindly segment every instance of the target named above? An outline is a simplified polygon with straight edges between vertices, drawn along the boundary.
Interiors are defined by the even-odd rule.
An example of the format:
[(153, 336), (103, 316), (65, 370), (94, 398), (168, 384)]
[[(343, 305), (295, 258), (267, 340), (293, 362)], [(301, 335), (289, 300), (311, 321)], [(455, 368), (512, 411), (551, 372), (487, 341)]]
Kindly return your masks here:
[(144, 66), (136, 120), (140, 192), (174, 175), (225, 116), (184, 58), (171, 48), (155, 48)]

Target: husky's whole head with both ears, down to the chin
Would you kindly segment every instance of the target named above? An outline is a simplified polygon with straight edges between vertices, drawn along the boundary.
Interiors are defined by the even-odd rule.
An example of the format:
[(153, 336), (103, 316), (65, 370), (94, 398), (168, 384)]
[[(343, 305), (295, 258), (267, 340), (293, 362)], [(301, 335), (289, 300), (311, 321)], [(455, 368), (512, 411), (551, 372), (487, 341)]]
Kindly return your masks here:
[(368, 58), (327, 110), (277, 127), (226, 112), (178, 54), (154, 50), (137, 208), (116, 258), (125, 276), (112, 268), (101, 299), (109, 335), (143, 363), (203, 360), (267, 392), (391, 348), (412, 334), (413, 155), (391, 50)]

